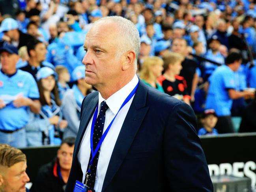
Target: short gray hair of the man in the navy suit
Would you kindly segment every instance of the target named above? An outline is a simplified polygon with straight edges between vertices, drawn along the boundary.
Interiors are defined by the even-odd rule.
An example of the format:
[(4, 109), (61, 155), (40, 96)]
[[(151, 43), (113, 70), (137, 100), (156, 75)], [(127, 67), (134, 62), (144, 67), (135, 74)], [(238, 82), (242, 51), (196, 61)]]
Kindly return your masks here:
[(140, 52), (140, 35), (135, 24), (128, 19), (120, 16), (103, 17), (94, 22), (94, 26), (100, 22), (114, 22), (120, 27), (118, 35), (121, 37), (120, 52), (116, 56), (121, 56), (128, 50), (134, 50), (136, 54), (135, 68), (137, 68), (137, 60)]

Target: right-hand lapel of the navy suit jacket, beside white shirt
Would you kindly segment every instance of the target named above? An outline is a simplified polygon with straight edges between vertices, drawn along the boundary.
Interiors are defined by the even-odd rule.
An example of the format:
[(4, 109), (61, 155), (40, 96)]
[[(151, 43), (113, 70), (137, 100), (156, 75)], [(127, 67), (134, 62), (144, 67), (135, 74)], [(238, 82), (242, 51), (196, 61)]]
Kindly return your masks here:
[(148, 88), (140, 80), (138, 89), (134, 96), (133, 102), (129, 108), (127, 116), (121, 127), (120, 134), (116, 141), (110, 162), (108, 164), (107, 173), (103, 183), (102, 192), (107, 188), (114, 175), (121, 166), (133, 140), (140, 128), (140, 125), (148, 111), (146, 106), (146, 97)]

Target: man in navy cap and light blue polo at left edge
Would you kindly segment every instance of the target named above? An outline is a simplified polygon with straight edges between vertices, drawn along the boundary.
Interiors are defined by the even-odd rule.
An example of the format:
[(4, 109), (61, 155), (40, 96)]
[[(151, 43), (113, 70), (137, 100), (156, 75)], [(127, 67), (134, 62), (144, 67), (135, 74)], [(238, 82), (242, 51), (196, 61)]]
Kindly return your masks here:
[(0, 143), (26, 147), (24, 126), (28, 123), (28, 108), (39, 113), (39, 92), (33, 76), (16, 69), (18, 50), (13, 45), (0, 48)]

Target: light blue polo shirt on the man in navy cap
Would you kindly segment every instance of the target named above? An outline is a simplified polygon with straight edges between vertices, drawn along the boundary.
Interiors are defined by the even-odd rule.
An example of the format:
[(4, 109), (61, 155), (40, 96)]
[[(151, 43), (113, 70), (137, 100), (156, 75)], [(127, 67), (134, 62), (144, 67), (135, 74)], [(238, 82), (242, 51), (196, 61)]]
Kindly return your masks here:
[(16, 130), (24, 127), (28, 122), (28, 107), (16, 108), (13, 100), (17, 97), (39, 98), (36, 81), (25, 71), (17, 70), (11, 77), (0, 71), (0, 99), (4, 100), (6, 107), (0, 109), (0, 129)]

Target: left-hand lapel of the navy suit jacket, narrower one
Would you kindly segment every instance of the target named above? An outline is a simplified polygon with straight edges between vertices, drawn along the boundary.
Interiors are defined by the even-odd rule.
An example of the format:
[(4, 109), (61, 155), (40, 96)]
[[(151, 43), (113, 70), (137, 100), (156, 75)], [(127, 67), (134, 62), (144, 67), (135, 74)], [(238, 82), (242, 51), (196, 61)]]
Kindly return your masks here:
[(82, 117), (81, 117), (81, 122), (80, 122), (80, 126), (79, 126), (79, 130), (77, 133), (77, 146), (75, 146), (76, 151), (74, 151), (75, 157), (77, 157), (77, 153), (79, 151), (80, 148), (80, 144), (82, 141), (82, 138), (84, 136), (84, 132), (88, 126), (88, 123), (92, 117), (93, 112), (95, 111), (95, 108), (97, 106), (99, 102), (99, 97), (98, 94), (93, 97), (93, 99), (90, 100), (90, 102), (88, 104), (85, 104), (85, 106), (83, 107), (83, 113), (82, 113)]

